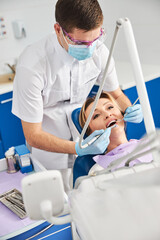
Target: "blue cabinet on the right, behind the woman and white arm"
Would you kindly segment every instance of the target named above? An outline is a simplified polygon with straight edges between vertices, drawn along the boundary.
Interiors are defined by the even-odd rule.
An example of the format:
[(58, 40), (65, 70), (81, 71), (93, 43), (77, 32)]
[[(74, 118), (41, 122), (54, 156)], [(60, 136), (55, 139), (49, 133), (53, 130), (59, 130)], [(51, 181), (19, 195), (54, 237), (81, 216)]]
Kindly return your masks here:
[[(147, 93), (151, 105), (152, 115), (156, 128), (160, 128), (160, 78), (146, 82)], [(133, 103), (137, 97), (136, 87), (131, 87), (123, 91)], [(126, 123), (126, 134), (129, 139), (140, 139), (146, 134), (144, 121), (140, 124)]]

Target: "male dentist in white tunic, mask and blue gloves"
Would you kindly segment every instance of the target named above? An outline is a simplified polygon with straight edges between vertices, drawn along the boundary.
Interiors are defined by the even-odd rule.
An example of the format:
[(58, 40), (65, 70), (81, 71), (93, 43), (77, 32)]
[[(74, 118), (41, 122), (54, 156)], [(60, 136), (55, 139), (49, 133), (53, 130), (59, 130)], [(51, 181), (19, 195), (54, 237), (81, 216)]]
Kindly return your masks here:
[[(58, 0), (55, 18), (55, 33), (28, 46), (19, 58), (12, 112), (21, 119), (32, 155), (47, 169), (59, 169), (69, 189), (75, 155), (100, 154), (109, 144), (110, 130), (100, 130), (101, 137), (80, 149), (71, 121), (72, 111), (82, 106), (94, 84), (100, 84), (109, 51), (103, 44), (103, 14), (97, 0)], [(113, 59), (104, 90), (130, 112), (126, 121), (142, 121), (140, 105), (130, 107), (119, 88)]]

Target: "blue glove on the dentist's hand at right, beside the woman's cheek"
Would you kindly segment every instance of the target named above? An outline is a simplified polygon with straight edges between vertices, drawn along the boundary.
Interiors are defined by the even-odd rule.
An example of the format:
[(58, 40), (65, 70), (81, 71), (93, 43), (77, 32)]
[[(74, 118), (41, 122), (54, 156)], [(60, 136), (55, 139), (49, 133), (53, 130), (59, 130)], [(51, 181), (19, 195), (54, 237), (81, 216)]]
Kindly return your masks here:
[(140, 123), (143, 120), (143, 113), (140, 104), (128, 107), (124, 114), (124, 121), (132, 123)]

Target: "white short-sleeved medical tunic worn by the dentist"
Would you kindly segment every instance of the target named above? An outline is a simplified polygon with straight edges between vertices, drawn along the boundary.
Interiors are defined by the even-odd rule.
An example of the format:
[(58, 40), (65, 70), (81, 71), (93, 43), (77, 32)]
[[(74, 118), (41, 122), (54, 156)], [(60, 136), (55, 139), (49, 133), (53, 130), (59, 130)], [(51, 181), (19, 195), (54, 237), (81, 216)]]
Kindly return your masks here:
[[(30, 123), (42, 122), (44, 131), (59, 138), (78, 140), (71, 121), (94, 84), (99, 84), (108, 49), (98, 44), (93, 57), (78, 61), (59, 44), (56, 34), (28, 46), (19, 58), (14, 79), (12, 112)], [(112, 59), (104, 90), (119, 86)], [(47, 169), (72, 167), (75, 156), (32, 148), (32, 155)]]

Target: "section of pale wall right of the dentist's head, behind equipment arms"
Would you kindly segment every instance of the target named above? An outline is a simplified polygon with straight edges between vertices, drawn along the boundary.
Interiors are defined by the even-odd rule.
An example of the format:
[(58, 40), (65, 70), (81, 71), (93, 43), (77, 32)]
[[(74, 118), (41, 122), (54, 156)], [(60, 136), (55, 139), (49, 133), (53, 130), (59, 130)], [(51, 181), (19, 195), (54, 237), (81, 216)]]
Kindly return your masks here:
[[(160, 66), (160, 0), (100, 0), (100, 4), (108, 33), (106, 41), (108, 47), (116, 20), (128, 17), (133, 27), (141, 62)], [(128, 60), (123, 30), (119, 33), (114, 57), (117, 60)]]

